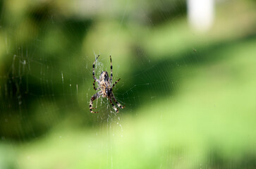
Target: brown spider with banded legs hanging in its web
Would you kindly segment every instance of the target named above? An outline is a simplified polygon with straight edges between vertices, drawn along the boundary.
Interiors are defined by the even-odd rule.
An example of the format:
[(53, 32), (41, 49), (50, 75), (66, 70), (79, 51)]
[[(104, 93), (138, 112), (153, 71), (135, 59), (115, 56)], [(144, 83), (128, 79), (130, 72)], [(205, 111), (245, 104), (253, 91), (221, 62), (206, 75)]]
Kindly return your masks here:
[[(118, 101), (116, 101), (116, 98), (114, 96), (113, 93), (113, 87), (116, 85), (116, 83), (119, 82), (120, 79), (116, 80), (116, 82), (114, 82), (113, 85), (111, 85), (112, 83), (112, 60), (111, 60), (111, 56), (110, 57), (110, 79), (109, 79), (109, 75), (106, 71), (102, 71), (102, 73), (99, 75), (99, 80), (97, 80), (97, 78), (95, 77), (95, 63), (97, 61), (97, 58), (99, 58), (99, 55), (97, 56), (97, 58), (95, 59), (95, 62), (92, 65), (92, 77), (95, 79), (95, 81), (93, 82), (93, 89), (95, 89), (96, 91), (98, 89), (99, 92), (97, 92), (95, 95), (92, 96), (92, 98), (90, 99), (90, 104), (89, 104), (89, 108), (91, 113), (99, 113), (98, 111), (92, 111), (92, 101), (94, 101), (95, 99), (99, 98), (99, 96), (102, 97), (107, 97), (109, 99), (110, 104), (113, 106), (114, 110), (116, 111), (116, 113), (118, 113), (118, 108), (116, 108), (116, 106), (113, 104), (113, 101), (117, 104), (118, 107), (120, 108), (124, 108), (125, 106), (121, 106), (121, 104), (118, 103)], [(98, 82), (98, 88), (95, 87), (95, 82)]]

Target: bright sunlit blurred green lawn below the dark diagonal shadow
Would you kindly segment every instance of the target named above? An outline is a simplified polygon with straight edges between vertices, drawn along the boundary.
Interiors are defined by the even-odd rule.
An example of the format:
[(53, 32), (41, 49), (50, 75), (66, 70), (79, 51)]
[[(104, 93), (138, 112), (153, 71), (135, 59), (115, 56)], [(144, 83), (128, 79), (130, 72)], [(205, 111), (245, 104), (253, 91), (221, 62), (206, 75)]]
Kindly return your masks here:
[(234, 43), (209, 54), (218, 61), (183, 69), (178, 94), (123, 115), (123, 130), (111, 123), (85, 134), (61, 125), (8, 146), (17, 150), (16, 167), (243, 168), (250, 159), (255, 167), (255, 45), (255, 38)]

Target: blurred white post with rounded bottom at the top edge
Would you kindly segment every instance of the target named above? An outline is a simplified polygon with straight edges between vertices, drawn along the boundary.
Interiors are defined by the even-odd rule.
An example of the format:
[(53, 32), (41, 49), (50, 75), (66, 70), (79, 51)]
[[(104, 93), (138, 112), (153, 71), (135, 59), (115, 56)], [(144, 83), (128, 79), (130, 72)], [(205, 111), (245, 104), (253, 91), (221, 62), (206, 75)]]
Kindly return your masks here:
[(187, 5), (191, 27), (207, 32), (214, 23), (214, 0), (187, 0)]

